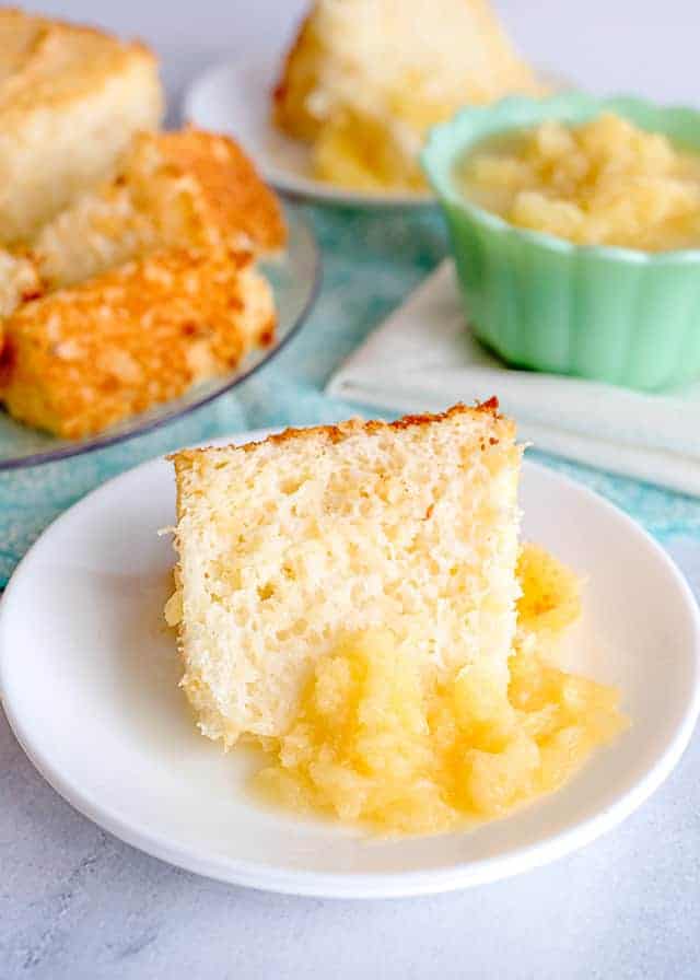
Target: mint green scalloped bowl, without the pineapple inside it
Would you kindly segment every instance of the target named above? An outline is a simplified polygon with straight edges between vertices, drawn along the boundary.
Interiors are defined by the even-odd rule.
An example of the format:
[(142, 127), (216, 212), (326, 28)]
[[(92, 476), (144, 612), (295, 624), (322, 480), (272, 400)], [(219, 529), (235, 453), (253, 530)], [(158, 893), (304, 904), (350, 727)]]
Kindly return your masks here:
[(447, 219), (476, 336), (511, 364), (643, 390), (700, 376), (700, 249), (574, 245), (509, 224), (468, 201), (455, 165), (476, 143), (546, 119), (602, 112), (700, 152), (700, 113), (568, 92), (466, 108), (435, 127), (421, 162)]

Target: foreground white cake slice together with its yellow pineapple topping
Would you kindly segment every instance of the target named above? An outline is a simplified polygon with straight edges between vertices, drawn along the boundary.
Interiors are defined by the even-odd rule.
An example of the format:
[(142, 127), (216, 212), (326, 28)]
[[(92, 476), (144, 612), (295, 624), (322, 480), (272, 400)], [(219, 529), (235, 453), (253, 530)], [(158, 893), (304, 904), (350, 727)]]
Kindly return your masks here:
[(182, 686), (261, 797), (381, 833), (508, 814), (626, 724), (551, 665), (579, 580), (518, 540), (492, 399), (172, 457)]

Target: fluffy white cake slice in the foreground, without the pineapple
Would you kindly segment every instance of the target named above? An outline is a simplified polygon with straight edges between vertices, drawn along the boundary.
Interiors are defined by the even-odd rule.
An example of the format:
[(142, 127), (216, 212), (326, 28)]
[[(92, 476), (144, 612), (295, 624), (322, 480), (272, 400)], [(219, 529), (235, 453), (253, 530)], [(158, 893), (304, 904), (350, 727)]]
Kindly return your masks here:
[(168, 615), (201, 731), (281, 735), (314, 664), (380, 627), (421, 672), (506, 685), (520, 457), (494, 402), (176, 454)]

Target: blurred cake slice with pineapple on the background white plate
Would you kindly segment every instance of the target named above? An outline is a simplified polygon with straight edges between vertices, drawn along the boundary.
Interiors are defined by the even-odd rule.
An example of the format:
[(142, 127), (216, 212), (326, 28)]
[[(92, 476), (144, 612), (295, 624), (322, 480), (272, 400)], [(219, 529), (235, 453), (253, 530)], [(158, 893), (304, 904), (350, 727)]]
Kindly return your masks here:
[(431, 126), (466, 104), (542, 91), (487, 0), (316, 0), (285, 58), (273, 119), (313, 144), (322, 179), (419, 189)]

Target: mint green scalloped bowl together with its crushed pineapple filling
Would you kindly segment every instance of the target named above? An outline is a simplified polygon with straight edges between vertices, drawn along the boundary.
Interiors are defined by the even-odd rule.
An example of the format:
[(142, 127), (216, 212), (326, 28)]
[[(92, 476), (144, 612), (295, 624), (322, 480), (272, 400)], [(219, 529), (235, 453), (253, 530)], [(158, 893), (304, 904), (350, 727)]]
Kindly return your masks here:
[(504, 98), (435, 127), (421, 161), (465, 319), (506, 363), (644, 392), (700, 377), (700, 113)]

